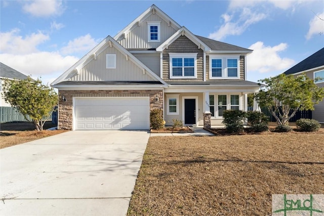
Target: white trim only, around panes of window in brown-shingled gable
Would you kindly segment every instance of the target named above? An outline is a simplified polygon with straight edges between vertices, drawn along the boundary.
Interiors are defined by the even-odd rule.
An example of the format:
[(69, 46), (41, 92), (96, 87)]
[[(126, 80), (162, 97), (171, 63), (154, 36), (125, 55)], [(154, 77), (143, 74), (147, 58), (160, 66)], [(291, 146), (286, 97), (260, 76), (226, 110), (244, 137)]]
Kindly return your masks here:
[[(195, 79), (197, 78), (197, 55), (198, 53), (169, 53), (169, 61), (170, 61), (170, 79)], [(182, 76), (174, 76), (172, 73), (172, 59), (173, 58), (182, 58)], [(185, 76), (184, 75), (184, 59), (185, 58), (193, 58), (193, 76)]]

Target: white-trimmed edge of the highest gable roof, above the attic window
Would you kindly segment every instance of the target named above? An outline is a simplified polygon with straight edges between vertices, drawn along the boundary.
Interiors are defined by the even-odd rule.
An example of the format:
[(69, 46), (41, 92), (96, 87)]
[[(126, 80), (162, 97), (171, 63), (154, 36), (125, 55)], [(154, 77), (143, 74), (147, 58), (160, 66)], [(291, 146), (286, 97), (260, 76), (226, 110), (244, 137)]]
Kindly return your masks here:
[[(142, 23), (148, 16), (151, 14), (157, 14), (162, 19), (164, 19), (169, 25), (174, 25), (176, 28), (181, 28), (181, 26), (174, 21), (171, 17), (169, 17), (166, 13), (161, 11), (158, 7), (156, 7), (154, 4), (151, 5), (146, 11), (144, 11), (140, 16), (138, 16), (133, 22), (131, 22), (128, 26), (126, 26), (123, 30), (119, 31), (113, 38), (118, 41), (118, 39), (121, 36), (127, 35), (134, 27), (138, 26), (140, 23)], [(135, 25), (137, 24), (137, 25)]]

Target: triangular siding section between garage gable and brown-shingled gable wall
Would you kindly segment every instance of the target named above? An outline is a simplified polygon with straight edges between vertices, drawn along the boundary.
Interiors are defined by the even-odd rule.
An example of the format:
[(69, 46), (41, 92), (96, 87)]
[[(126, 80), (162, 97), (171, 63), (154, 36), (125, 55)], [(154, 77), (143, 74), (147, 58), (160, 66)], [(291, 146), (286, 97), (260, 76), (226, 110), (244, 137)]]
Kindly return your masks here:
[(154, 53), (154, 54), (139, 54), (134, 53), (133, 54), (136, 58), (138, 58), (143, 64), (145, 64), (149, 69), (151, 69), (156, 75), (159, 77), (161, 76), (161, 61), (160, 61), (160, 54)]

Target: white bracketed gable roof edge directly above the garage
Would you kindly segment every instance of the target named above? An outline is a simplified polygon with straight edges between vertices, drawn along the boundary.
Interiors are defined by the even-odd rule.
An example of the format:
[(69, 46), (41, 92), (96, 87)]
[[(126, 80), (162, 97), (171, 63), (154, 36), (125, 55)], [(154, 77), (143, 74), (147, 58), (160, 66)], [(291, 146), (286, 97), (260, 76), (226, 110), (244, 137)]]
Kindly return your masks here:
[(65, 71), (61, 76), (59, 76), (56, 80), (54, 80), (51, 85), (58, 84), (62, 81), (66, 81), (65, 79), (71, 77), (72, 75), (78, 73), (79, 68), (85, 66), (88, 62), (95, 59), (96, 56), (103, 51), (102, 48), (106, 45), (113, 46), (116, 48), (120, 53), (127, 56), (134, 64), (138, 67), (142, 68), (143, 71), (147, 71), (147, 74), (152, 77), (155, 81), (159, 81), (163, 84), (166, 82), (157, 76), (154, 72), (151, 71), (146, 65), (144, 65), (141, 61), (139, 61), (133, 54), (131, 54), (128, 50), (126, 50), (123, 46), (118, 44), (116, 40), (114, 40), (111, 36), (107, 36), (104, 40), (102, 40), (94, 49), (92, 49), (87, 55), (85, 55), (82, 59), (77, 61), (72, 67), (70, 67), (67, 71)]

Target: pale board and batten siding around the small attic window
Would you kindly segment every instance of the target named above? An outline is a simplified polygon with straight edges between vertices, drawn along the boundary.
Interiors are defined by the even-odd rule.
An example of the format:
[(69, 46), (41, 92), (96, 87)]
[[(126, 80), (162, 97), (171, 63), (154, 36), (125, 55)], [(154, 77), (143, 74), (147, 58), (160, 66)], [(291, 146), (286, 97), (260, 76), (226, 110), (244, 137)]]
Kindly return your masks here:
[[(157, 21), (160, 22), (160, 41), (159, 42), (148, 42), (148, 25), (147, 22)], [(123, 39), (117, 41), (119, 44), (126, 49), (151, 49), (157, 48), (165, 40), (167, 40), (171, 35), (173, 35), (177, 30), (176, 26), (164, 21), (157, 14), (151, 14), (144, 21), (138, 22), (131, 28), (132, 30), (126, 34)]]

